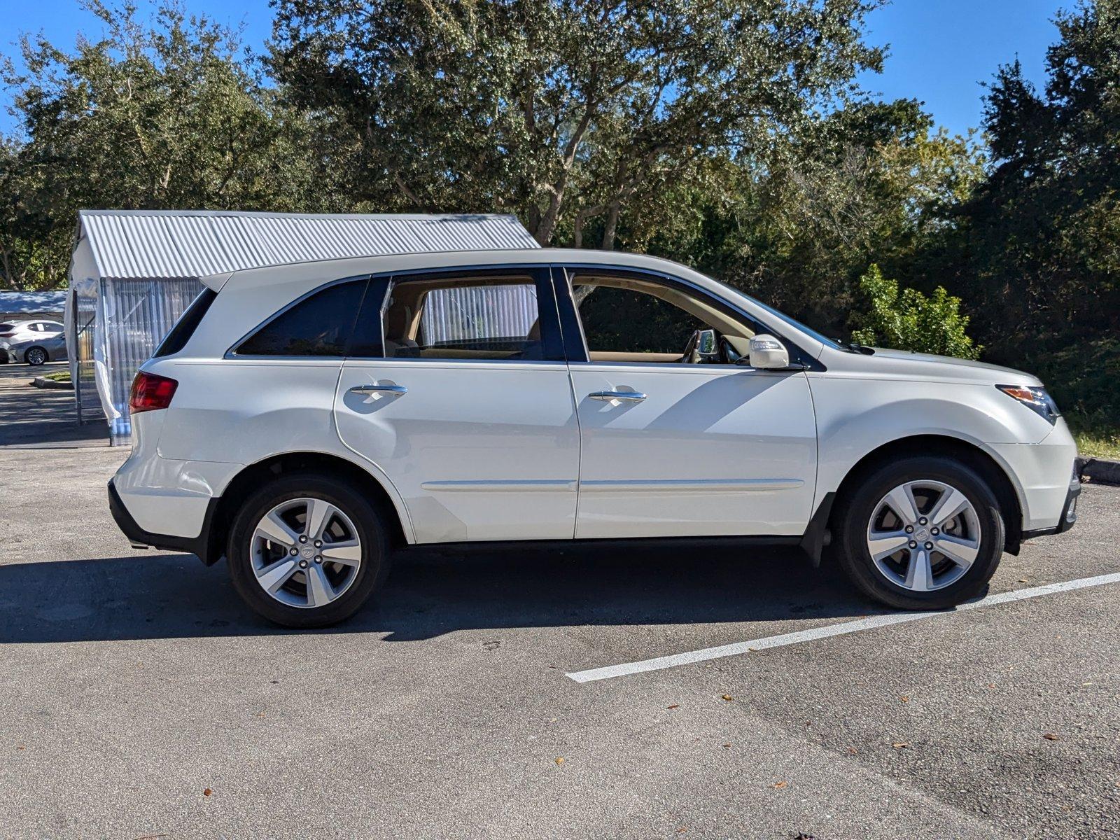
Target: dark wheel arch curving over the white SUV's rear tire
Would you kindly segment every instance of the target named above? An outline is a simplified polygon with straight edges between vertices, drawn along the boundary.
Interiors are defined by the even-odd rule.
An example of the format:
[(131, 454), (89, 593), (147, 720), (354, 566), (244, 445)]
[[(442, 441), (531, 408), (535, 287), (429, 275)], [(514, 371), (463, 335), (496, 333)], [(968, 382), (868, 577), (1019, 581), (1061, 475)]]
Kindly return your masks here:
[(241, 469), (225, 485), (221, 496), (214, 500), (214, 510), (206, 529), (206, 552), (202, 558), (207, 566), (225, 554), (230, 526), (237, 513), (237, 505), (245, 495), (262, 482), (287, 473), (314, 472), (327, 477), (348, 480), (384, 514), (394, 526), (390, 544), (399, 545), (412, 541), (412, 526), (403, 501), (391, 492), (370, 470), (338, 455), (318, 451), (283, 452), (271, 455)]

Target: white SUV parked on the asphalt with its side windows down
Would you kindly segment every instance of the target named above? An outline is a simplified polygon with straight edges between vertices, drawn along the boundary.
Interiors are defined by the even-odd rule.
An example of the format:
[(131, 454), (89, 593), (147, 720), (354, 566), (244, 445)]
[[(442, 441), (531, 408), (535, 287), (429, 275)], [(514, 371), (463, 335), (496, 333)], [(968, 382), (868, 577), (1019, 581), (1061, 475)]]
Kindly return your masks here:
[(228, 559), (249, 605), (340, 620), (396, 545), (823, 547), (942, 608), (1074, 520), (1034, 376), (842, 346), (682, 265), (594, 251), (236, 271), (137, 375), (110, 506), (133, 545)]

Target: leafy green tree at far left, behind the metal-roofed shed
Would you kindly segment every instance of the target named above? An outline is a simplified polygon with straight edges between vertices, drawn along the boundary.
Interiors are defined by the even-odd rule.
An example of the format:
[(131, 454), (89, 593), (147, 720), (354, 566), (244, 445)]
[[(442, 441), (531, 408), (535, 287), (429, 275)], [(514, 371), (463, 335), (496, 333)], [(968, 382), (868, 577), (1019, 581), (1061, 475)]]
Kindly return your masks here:
[(100, 40), (66, 53), (25, 37), (4, 63), (20, 132), (0, 146), (0, 269), (10, 288), (65, 279), (76, 212), (333, 209), (354, 139), (324, 112), (297, 114), (239, 59), (235, 32), (171, 4), (88, 0)]

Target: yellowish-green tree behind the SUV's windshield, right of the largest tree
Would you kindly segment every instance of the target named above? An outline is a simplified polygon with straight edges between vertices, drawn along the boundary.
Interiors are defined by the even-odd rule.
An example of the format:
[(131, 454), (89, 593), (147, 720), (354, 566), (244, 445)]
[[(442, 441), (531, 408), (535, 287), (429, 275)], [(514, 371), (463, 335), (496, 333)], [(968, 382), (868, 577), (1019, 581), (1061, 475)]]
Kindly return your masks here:
[(673, 194), (689, 224), (645, 241), (624, 233), (841, 335), (868, 263), (909, 276), (954, 228), (983, 166), (972, 137), (934, 131), (918, 102), (856, 102), (768, 158), (729, 162), (692, 196)]

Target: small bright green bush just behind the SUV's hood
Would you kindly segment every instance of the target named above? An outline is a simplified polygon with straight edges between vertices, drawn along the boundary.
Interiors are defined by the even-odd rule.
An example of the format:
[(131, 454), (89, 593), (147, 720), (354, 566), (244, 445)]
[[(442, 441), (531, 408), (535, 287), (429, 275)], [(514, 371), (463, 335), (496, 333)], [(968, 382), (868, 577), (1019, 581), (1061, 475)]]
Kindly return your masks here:
[(969, 318), (961, 315), (961, 299), (942, 287), (926, 297), (916, 289), (903, 289), (885, 278), (872, 264), (859, 280), (868, 311), (853, 312), (852, 339), (867, 346), (934, 353), (940, 356), (976, 358), (982, 347), (973, 346), (965, 332)]

